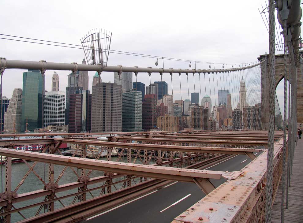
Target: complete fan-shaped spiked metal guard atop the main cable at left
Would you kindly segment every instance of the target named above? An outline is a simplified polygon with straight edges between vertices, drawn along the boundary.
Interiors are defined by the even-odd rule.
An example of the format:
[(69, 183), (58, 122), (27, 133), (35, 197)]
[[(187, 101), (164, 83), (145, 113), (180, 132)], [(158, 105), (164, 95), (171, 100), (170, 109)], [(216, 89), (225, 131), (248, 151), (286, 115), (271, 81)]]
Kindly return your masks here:
[(89, 65), (99, 64), (107, 66), (110, 50), (111, 32), (101, 29), (93, 29), (80, 39), (86, 61)]

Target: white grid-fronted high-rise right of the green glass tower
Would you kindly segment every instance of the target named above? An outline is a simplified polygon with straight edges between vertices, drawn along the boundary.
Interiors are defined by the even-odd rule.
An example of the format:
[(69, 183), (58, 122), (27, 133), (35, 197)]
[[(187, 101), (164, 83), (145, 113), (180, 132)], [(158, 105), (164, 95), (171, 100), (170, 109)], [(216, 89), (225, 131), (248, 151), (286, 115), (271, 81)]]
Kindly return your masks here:
[(65, 92), (49, 91), (44, 94), (43, 126), (65, 125)]

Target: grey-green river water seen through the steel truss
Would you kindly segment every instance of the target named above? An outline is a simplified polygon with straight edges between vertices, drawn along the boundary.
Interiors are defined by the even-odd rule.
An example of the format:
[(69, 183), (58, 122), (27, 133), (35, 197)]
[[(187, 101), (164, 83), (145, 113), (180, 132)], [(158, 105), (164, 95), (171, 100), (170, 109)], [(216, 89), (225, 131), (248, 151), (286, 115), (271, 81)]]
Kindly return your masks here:
[[(127, 162), (127, 157), (121, 157), (123, 162)], [(106, 160), (106, 157), (100, 158), (100, 160)], [(116, 161), (117, 157), (112, 157), (112, 161)], [(133, 160), (133, 159), (132, 159)], [(28, 162), (29, 165), (32, 165), (34, 162)], [(140, 161), (139, 158), (137, 158), (136, 163), (142, 163)], [(151, 161), (151, 163), (154, 163), (153, 161)], [(2, 190), (4, 191), (4, 183), (5, 183), (5, 165), (1, 165), (2, 167)], [(19, 182), (22, 180), (22, 178), (24, 177), (24, 175), (27, 173), (28, 171), (28, 166), (25, 163), (12, 163), (12, 190), (14, 190), (17, 185), (19, 184)], [(60, 173), (62, 172), (62, 170), (64, 169), (64, 166), (60, 166), (60, 165), (54, 165), (54, 179), (55, 181), (57, 180), (58, 176), (60, 175)], [(80, 174), (80, 169), (77, 170), (77, 168), (73, 168), (75, 171), (78, 171)], [(48, 164), (43, 164), (42, 162), (38, 162), (36, 164), (36, 166), (34, 167), (34, 170), (37, 172), (37, 174), (42, 177), (42, 179), (45, 179), (46, 183), (48, 182)], [(86, 173), (88, 173), (88, 170), (86, 171)], [(92, 173), (90, 174), (90, 178), (93, 177), (99, 177), (99, 176), (103, 176), (103, 172), (101, 171), (92, 171)], [(118, 181), (118, 180), (123, 180), (124, 177), (121, 177), (120, 179), (114, 179), (114, 181)], [(71, 183), (71, 182), (75, 182), (77, 181), (77, 176), (76, 174), (72, 171), (71, 168), (67, 168), (63, 177), (60, 179), (60, 181), (58, 182), (59, 185), (61, 184), (67, 184), (67, 183)], [(139, 182), (139, 179), (135, 179), (136, 182)], [(134, 182), (132, 182), (134, 183)], [(88, 188), (93, 188), (96, 186), (101, 186), (103, 183), (99, 182), (93, 185), (88, 186)], [(120, 189), (122, 187), (122, 183), (120, 184), (116, 184), (115, 185), (117, 187), (117, 189)], [(25, 179), (24, 183), (21, 185), (21, 187), (18, 189), (17, 194), (22, 194), (22, 193), (27, 193), (30, 191), (35, 191), (35, 190), (40, 190), (43, 189), (44, 185), (43, 183), (38, 179), (38, 177), (36, 177), (36, 175), (31, 171), (28, 175), (28, 177)], [(115, 188), (112, 186), (112, 191), (114, 191)], [(100, 194), (101, 189), (92, 191), (92, 195), (93, 196), (97, 196)], [(62, 195), (68, 195), (71, 194), (73, 192), (78, 192), (78, 189), (75, 188), (73, 190), (69, 190), (69, 191), (64, 191), (64, 192), (60, 192), (60, 193), (56, 193), (56, 196), (62, 196)], [(86, 195), (87, 199), (92, 198), (92, 196), (87, 193)], [(61, 202), (63, 203), (63, 205), (69, 205), (73, 202), (74, 196), (66, 198), (66, 199), (62, 199)], [(29, 201), (25, 201), (25, 202), (20, 202), (20, 203), (14, 203), (13, 206), (15, 208), (21, 208), (24, 206), (28, 206), (34, 203), (38, 203), (38, 202), (42, 202), (44, 200), (44, 197), (39, 197), (36, 199), (32, 199)], [(77, 202), (77, 198), (76, 198), (76, 202)], [(61, 203), (59, 203), (58, 201), (54, 203), (55, 209), (63, 207)], [(24, 217), (32, 217), (35, 216), (35, 214), (37, 213), (38, 209), (40, 206), (35, 206), (29, 209), (25, 209), (25, 210), (21, 210), (20, 213), (22, 215), (24, 215)], [(40, 211), (40, 214), (42, 214), (44, 212), (44, 209), (42, 208), (42, 210)], [(12, 221), (11, 222), (17, 222), (22, 220), (23, 217), (21, 217), (20, 214), (18, 213), (13, 213), (12, 214)]]

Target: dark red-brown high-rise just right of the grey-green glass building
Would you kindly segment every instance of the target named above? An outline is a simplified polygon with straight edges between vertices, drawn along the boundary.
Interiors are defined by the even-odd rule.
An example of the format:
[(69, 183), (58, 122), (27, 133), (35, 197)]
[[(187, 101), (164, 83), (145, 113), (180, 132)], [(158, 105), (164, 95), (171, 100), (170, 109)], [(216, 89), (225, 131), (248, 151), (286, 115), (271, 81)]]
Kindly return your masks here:
[(149, 131), (156, 125), (156, 105), (157, 98), (155, 94), (144, 95), (142, 102), (142, 128), (144, 131)]

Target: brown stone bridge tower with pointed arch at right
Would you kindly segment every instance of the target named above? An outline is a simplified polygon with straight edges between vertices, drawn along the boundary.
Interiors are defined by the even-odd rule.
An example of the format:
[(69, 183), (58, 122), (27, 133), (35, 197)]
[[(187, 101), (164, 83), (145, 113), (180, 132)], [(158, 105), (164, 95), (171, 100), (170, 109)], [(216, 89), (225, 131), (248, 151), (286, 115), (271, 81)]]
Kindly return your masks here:
[[(268, 130), (269, 126), (269, 113), (268, 113), (268, 95), (269, 95), (269, 79), (268, 67), (269, 60), (268, 54), (260, 55), (259, 61), (266, 60), (264, 69), (261, 65), (261, 129)], [(288, 54), (287, 60), (288, 61)], [(275, 89), (280, 81), (283, 79), (284, 73), (284, 55), (275, 55)], [(303, 70), (302, 66), (297, 67), (297, 125), (303, 127)], [(288, 80), (288, 65), (287, 65), (287, 80)], [(288, 92), (288, 89), (287, 89)]]

